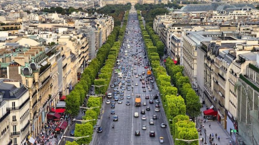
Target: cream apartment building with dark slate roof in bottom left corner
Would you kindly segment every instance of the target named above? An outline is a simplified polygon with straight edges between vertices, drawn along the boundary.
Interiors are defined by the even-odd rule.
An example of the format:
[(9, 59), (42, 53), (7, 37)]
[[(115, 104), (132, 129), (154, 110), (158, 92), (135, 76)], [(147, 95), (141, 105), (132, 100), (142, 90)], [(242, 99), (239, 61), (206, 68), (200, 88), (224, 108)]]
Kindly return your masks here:
[(10, 112), (9, 122), (2, 128), (10, 128), (11, 133), (7, 136), (10, 135), (13, 144), (25, 145), (30, 133), (29, 91), (20, 82), (11, 79), (0, 79), (0, 84), (2, 99), (6, 103), (5, 109)]

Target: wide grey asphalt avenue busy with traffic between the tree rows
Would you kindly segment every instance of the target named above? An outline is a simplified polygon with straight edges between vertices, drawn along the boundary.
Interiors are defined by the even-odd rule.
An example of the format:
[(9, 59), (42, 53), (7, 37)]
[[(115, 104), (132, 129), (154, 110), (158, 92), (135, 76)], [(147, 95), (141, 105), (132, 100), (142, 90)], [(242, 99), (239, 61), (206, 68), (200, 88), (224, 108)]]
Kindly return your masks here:
[[(127, 49), (128, 44), (130, 48)], [(103, 128), (103, 132), (96, 133), (96, 136), (94, 136), (93, 139), (93, 145), (158, 145), (160, 144), (159, 137), (164, 137), (164, 144), (173, 144), (168, 129), (169, 126), (166, 128), (160, 127), (160, 123), (166, 123), (165, 113), (162, 109), (161, 101), (159, 103), (159, 112), (155, 112), (155, 100), (153, 100), (153, 104), (149, 103), (149, 100), (153, 98), (154, 94), (158, 93), (155, 82), (151, 83), (151, 80), (149, 80), (151, 87), (154, 85), (154, 89), (152, 89), (152, 91), (148, 90), (147, 84), (145, 83), (146, 92), (143, 92), (140, 76), (138, 78), (136, 77), (136, 74), (142, 74), (144, 71), (146, 82), (147, 69), (144, 67), (147, 64), (146, 62), (148, 62), (148, 59), (146, 58), (146, 52), (143, 45), (137, 13), (135, 9), (132, 8), (129, 13), (127, 30), (118, 57), (120, 64), (115, 68), (115, 70), (120, 69), (120, 71), (123, 72), (123, 76), (126, 77), (121, 78), (121, 82), (118, 85), (118, 90), (121, 92), (120, 86), (122, 85), (122, 81), (124, 79), (125, 81), (130, 80), (130, 90), (126, 89), (126, 86), (128, 85), (126, 82), (125, 85), (123, 85), (125, 86), (124, 99), (121, 104), (118, 104), (118, 101), (115, 101), (116, 104), (114, 109), (111, 109), (111, 104), (104, 104), (104, 114), (102, 116), (101, 123), (99, 124), (99, 126), (102, 126)], [(125, 51), (127, 51), (127, 55), (125, 55)], [(140, 59), (140, 55), (142, 55), (143, 59)], [(138, 65), (138, 62), (141, 64)], [(137, 64), (134, 65), (134, 63)], [(125, 73), (121, 70), (123, 67), (125, 67)], [(117, 82), (117, 79), (118, 74), (113, 72), (110, 84)], [(135, 86), (135, 83), (138, 83), (138, 86)], [(109, 86), (107, 93), (112, 93), (113, 95), (114, 88), (111, 87), (111, 85)], [(141, 107), (135, 107), (135, 95), (137, 94), (141, 96)], [(131, 96), (130, 99), (127, 99), (128, 95)], [(145, 99), (146, 95), (149, 95), (149, 99)], [(118, 97), (120, 97), (120, 94), (118, 94)], [(160, 100), (160, 97), (158, 99)], [(105, 98), (104, 103), (107, 100), (114, 101), (114, 98)], [(127, 101), (130, 102), (129, 106), (126, 105)], [(146, 111), (146, 106), (143, 106), (143, 102), (146, 102), (146, 106), (150, 107), (150, 111)], [(142, 109), (145, 110), (145, 114), (141, 114)], [(118, 121), (113, 121), (113, 114), (111, 114), (111, 110), (114, 110), (115, 115), (118, 115)], [(134, 112), (138, 112), (139, 117), (134, 117)], [(157, 115), (157, 119), (154, 119), (154, 125), (150, 125), (149, 120), (152, 119), (154, 114)], [(146, 116), (146, 120), (141, 120), (142, 115)], [(115, 124), (115, 128), (112, 128), (113, 123)], [(147, 125), (146, 130), (142, 130), (142, 125)], [(140, 131), (140, 136), (135, 136), (136, 130)], [(149, 137), (149, 131), (155, 131), (155, 137)]]

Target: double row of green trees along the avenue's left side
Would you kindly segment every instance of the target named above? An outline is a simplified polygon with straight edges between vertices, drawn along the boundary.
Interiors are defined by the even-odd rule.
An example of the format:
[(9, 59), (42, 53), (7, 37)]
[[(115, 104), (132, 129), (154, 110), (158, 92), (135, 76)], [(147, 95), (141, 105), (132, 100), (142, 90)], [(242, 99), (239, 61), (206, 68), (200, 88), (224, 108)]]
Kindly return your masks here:
[[(124, 16), (123, 26), (114, 27), (112, 34), (108, 37), (106, 43), (99, 49), (96, 58), (94, 58), (89, 66), (85, 69), (84, 74), (80, 82), (76, 85), (75, 89), (71, 91), (71, 93), (67, 96), (66, 102), (66, 111), (68, 113), (74, 113), (73, 116), (76, 116), (79, 111), (79, 106), (82, 105), (83, 99), (85, 98), (85, 93), (91, 87), (91, 84), (94, 85), (106, 85), (103, 87), (95, 87), (96, 93), (104, 94), (108, 88), (110, 78), (112, 75), (113, 67), (116, 62), (116, 58), (118, 56), (118, 52), (121, 46), (122, 38), (125, 34), (127, 20), (128, 20), (129, 11), (126, 12)], [(117, 41), (116, 41), (117, 38)], [(116, 42), (115, 42), (116, 41)], [(111, 47), (112, 46), (112, 47)], [(104, 66), (102, 67), (102, 65)], [(102, 67), (102, 68), (101, 68)], [(100, 70), (101, 69), (101, 70)], [(98, 72), (100, 70), (100, 74), (98, 75), (99, 79), (95, 79)], [(82, 85), (84, 87), (79, 88), (78, 85)], [(81, 96), (80, 94), (84, 93)], [(84, 97), (83, 97), (84, 96)], [(78, 103), (77, 103), (78, 102)], [(76, 104), (76, 105), (75, 105)], [(94, 109), (88, 109), (85, 111), (84, 120), (92, 120), (83, 124), (76, 124), (75, 126), (75, 137), (81, 136), (89, 136), (86, 138), (81, 138), (74, 142), (67, 142), (66, 145), (78, 145), (78, 144), (89, 144), (92, 140), (93, 134), (93, 126), (96, 124), (98, 119), (98, 115), (100, 113), (100, 109), (102, 107), (102, 98), (101, 97), (89, 97), (87, 107), (98, 107)]]

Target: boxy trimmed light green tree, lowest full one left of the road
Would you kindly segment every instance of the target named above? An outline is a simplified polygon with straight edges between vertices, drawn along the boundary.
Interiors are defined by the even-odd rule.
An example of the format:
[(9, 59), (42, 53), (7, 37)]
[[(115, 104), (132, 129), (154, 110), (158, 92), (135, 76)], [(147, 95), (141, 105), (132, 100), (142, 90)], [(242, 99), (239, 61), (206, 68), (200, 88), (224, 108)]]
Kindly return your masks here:
[(75, 137), (89, 136), (80, 138), (77, 144), (89, 144), (92, 140), (93, 126), (90, 123), (77, 124), (75, 127)]

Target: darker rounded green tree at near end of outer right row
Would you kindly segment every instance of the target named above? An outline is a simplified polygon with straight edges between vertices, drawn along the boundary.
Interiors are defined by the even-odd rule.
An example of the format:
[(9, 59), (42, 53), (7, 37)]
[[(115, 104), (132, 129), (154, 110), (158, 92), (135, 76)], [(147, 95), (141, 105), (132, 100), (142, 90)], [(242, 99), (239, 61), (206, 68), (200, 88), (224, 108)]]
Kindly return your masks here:
[(191, 117), (197, 117), (200, 114), (201, 107), (199, 96), (196, 95), (194, 90), (189, 89), (186, 95), (186, 112)]

